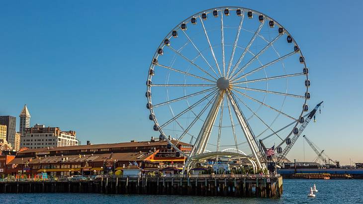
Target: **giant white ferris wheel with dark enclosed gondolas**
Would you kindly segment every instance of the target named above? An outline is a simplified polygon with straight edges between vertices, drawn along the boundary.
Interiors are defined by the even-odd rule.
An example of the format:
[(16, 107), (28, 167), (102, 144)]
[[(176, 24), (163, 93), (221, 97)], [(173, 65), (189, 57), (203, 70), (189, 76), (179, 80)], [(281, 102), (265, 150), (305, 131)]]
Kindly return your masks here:
[[(310, 99), (305, 58), (287, 29), (232, 6), (177, 24), (158, 46), (146, 86), (153, 129), (187, 158), (184, 169), (226, 154), (266, 168), (259, 139), (289, 141)], [(286, 123), (294, 123), (288, 132), (276, 131)], [(190, 141), (190, 152), (177, 147)]]

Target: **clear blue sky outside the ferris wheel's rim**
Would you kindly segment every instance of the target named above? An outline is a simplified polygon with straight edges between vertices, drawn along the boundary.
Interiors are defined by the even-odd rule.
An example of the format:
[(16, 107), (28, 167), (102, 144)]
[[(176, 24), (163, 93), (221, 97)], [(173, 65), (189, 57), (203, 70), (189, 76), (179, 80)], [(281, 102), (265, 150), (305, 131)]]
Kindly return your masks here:
[[(182, 19), (235, 5), (272, 16), (297, 40), (322, 114), (304, 134), (334, 160), (363, 162), (363, 1), (0, 1), (0, 115), (26, 103), (31, 125), (77, 131), (85, 143), (155, 135), (145, 108), (152, 56)], [(19, 120), (17, 119), (17, 129)], [(288, 158), (312, 160), (297, 142)]]

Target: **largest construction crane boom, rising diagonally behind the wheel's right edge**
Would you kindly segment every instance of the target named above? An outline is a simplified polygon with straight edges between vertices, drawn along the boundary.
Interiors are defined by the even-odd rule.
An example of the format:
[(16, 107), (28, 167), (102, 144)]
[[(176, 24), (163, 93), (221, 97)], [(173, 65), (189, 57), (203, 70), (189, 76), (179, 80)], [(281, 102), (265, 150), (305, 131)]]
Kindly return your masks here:
[[(309, 115), (304, 119), (303, 123), (301, 124), (300, 128), (298, 129), (298, 133), (295, 134), (291, 139), (290, 139), (290, 135), (293, 133), (293, 131), (290, 132), (290, 134), (286, 137), (285, 140), (283, 140), (278, 146), (277, 148), (281, 148), (280, 146), (286, 142), (286, 147), (282, 150), (282, 152), (280, 153), (280, 155), (277, 157), (277, 162), (281, 162), (287, 155), (287, 153), (291, 150), (292, 146), (295, 144), (296, 140), (299, 138), (300, 134), (302, 133), (302, 131), (304, 131), (305, 127), (307, 126), (307, 124), (310, 122), (310, 120), (315, 116), (315, 112), (318, 110), (318, 108), (320, 107), (321, 103), (318, 103), (315, 108), (313, 110), (311, 110), (311, 112), (309, 113)], [(278, 151), (277, 151), (278, 152)], [(319, 154), (319, 152), (318, 152)]]

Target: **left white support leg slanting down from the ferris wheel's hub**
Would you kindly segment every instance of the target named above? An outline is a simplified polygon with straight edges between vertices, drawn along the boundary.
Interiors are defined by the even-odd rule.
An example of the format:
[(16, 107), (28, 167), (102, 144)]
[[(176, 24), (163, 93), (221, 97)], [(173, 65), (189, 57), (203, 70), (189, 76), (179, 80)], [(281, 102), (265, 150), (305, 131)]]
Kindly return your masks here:
[[(185, 162), (185, 167), (190, 168), (190, 165), (193, 164), (193, 162), (191, 162), (193, 156), (197, 154), (202, 154), (204, 152), (209, 140), (210, 133), (212, 132), (213, 124), (217, 118), (224, 92), (225, 92), (224, 90), (220, 90), (218, 95), (215, 97), (215, 101), (213, 102), (213, 105), (210, 108), (209, 113), (204, 121), (204, 124), (198, 134), (193, 149), (190, 152), (190, 156)], [(189, 166), (187, 166), (186, 164)]]

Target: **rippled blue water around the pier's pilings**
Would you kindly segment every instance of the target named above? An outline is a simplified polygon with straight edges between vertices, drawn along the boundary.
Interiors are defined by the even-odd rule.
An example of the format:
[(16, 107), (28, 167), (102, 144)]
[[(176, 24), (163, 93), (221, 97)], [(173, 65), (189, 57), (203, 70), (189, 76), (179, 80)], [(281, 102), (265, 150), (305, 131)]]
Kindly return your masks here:
[[(318, 193), (308, 198), (310, 187), (316, 184)], [(0, 194), (1, 204), (110, 204), (110, 203), (363, 203), (363, 180), (283, 180), (283, 195), (278, 199), (152, 196), (152, 195), (103, 195), (103, 194)]]

